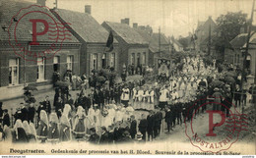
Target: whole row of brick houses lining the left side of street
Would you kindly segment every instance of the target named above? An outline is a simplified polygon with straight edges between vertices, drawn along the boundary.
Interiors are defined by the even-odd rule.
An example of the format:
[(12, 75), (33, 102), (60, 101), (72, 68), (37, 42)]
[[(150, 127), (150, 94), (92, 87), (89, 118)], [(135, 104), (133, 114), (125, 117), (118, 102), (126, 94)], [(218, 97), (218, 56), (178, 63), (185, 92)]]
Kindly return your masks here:
[[(8, 0), (0, 4), (0, 100), (23, 94), (25, 83), (34, 84), (39, 90), (51, 88), (54, 72), (59, 72), (61, 78), (67, 70), (78, 76), (89, 76), (92, 70), (111, 67), (121, 74), (123, 68), (130, 65), (135, 68), (155, 66), (158, 69), (159, 59), (170, 61), (170, 41), (163, 33), (153, 33), (150, 26), (133, 24), (131, 27), (129, 19), (123, 19), (121, 23), (103, 22), (100, 25), (92, 16), (92, 8), (88, 5), (85, 6), (85, 13), (44, 7), (34, 10), (29, 8), (32, 5), (34, 4), (30, 2)], [(36, 5), (45, 6), (45, 0), (37, 0)], [(24, 8), (29, 8), (30, 13), (39, 11), (49, 15), (54, 23), (64, 26), (68, 31), (68, 40), (56, 45), (61, 49), (51, 58), (36, 56), (33, 60), (25, 60), (23, 56), (17, 55), (10, 45), (10, 41), (19, 42), (23, 45), (24, 53), (30, 50), (36, 54), (47, 50), (52, 44), (47, 34), (38, 35), (36, 40), (39, 44), (32, 44), (32, 24), (20, 23), (20, 17), (13, 17)], [(44, 14), (26, 16), (28, 22), (31, 19), (48, 20)], [(19, 23), (15, 28), (18, 39), (9, 36), (11, 23)], [(45, 29), (41, 24), (36, 25), (39, 25), (37, 28), (40, 31)], [(66, 30), (63, 29), (64, 32)], [(40, 31), (36, 29), (36, 32)], [(107, 51), (106, 41), (110, 31), (114, 37), (113, 49)], [(3, 91), (5, 94), (2, 94)]]

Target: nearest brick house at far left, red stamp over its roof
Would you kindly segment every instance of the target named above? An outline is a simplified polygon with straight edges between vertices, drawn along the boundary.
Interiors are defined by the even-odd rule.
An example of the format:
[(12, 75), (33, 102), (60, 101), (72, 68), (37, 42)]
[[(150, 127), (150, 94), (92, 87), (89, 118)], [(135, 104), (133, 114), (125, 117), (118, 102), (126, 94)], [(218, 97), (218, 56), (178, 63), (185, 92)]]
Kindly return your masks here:
[[(80, 43), (73, 36), (70, 35), (68, 40), (64, 40), (62, 44), (55, 43), (55, 46), (61, 49), (47, 58), (46, 55), (40, 53), (45, 52), (51, 44), (52, 40), (49, 36), (38, 35), (36, 41), (39, 45), (32, 45), (32, 24), (29, 20), (40, 19), (47, 21), (43, 14), (28, 14), (23, 19), (20, 17), (23, 11), (12, 19), (22, 8), (27, 8), (33, 3), (18, 2), (18, 1), (2, 1), (0, 15), (0, 100), (9, 99), (23, 95), (24, 83), (34, 84), (38, 90), (52, 87), (52, 75), (54, 70), (58, 70), (63, 77), (67, 69), (72, 70), (74, 73), (79, 72), (79, 51)], [(49, 15), (54, 19), (56, 23), (60, 23), (48, 9), (45, 8), (30, 8), (30, 11), (41, 11)], [(21, 19), (21, 21), (18, 21)], [(29, 23), (20, 23), (20, 22)], [(16, 29), (17, 41), (11, 35), (9, 39), (8, 27), (10, 26), (10, 32), (12, 32), (11, 24), (18, 24)], [(37, 24), (39, 25), (39, 24)], [(42, 26), (37, 28), (43, 30)], [(40, 30), (40, 31), (41, 31)], [(20, 43), (25, 50), (18, 51), (18, 47), (13, 47), (10, 43)], [(19, 52), (24, 55), (26, 52), (34, 53), (33, 57), (26, 56), (27, 60), (24, 60), (24, 56), (18, 56), (15, 52)], [(40, 54), (40, 55), (39, 55)], [(33, 61), (31, 60), (33, 59)]]

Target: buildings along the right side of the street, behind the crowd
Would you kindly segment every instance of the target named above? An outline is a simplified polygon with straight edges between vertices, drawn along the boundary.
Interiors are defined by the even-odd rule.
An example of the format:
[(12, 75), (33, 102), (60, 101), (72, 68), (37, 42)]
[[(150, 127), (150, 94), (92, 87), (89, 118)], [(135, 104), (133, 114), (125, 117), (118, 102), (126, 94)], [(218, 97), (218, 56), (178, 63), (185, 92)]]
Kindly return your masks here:
[[(195, 49), (197, 51), (208, 52), (211, 50), (211, 55), (215, 56), (216, 59), (222, 58), (227, 64), (232, 64), (233, 66), (238, 66), (240, 69), (243, 68), (244, 59), (245, 60), (245, 70), (252, 77), (255, 78), (256, 69), (256, 28), (252, 26), (252, 34), (250, 37), (250, 44), (247, 57), (244, 57), (246, 42), (247, 42), (247, 29), (246, 24), (240, 28), (240, 33), (230, 41), (225, 41), (224, 50), (222, 52), (217, 52), (214, 43), (216, 37), (220, 36), (221, 33), (217, 32), (217, 25), (213, 21), (212, 17), (209, 17), (205, 22), (198, 22), (198, 26), (195, 30), (197, 39), (195, 40)], [(253, 79), (252, 79), (253, 80)]]

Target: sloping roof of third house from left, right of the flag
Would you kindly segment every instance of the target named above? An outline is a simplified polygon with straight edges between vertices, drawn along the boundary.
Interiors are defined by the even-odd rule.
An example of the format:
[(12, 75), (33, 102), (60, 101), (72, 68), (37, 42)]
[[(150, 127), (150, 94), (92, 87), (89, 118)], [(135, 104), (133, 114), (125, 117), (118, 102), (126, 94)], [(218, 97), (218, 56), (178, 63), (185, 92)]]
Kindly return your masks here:
[(120, 23), (103, 22), (102, 26), (109, 26), (114, 35), (118, 35), (128, 44), (149, 44), (134, 28)]

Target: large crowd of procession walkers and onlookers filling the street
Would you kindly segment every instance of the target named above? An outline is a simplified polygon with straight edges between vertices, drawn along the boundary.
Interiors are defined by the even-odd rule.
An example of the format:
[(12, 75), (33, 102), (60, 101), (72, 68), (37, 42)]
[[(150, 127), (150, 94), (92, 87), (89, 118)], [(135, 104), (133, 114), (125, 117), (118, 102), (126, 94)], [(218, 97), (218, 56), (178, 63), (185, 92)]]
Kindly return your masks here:
[[(70, 74), (65, 78), (72, 79)], [(1, 137), (6, 141), (41, 143), (77, 140), (112, 144), (145, 142), (147, 138), (152, 141), (160, 132), (170, 133), (177, 125), (204, 113), (209, 107), (197, 110), (206, 102), (201, 98), (212, 98), (230, 108), (234, 96), (238, 103), (238, 93), (233, 93), (234, 89), (239, 90), (236, 82), (224, 80), (221, 86), (213, 84), (216, 79), (222, 79), (216, 68), (192, 57), (184, 60), (182, 71), (155, 82), (141, 79), (99, 87), (85, 83), (75, 97), (69, 92), (72, 87), (54, 85), (52, 102), (45, 96), (38, 103), (21, 103), (11, 116), (13, 128), (8, 110), (3, 110)], [(84, 76), (83, 80), (90, 79)], [(229, 110), (219, 104), (213, 108), (229, 116)]]

